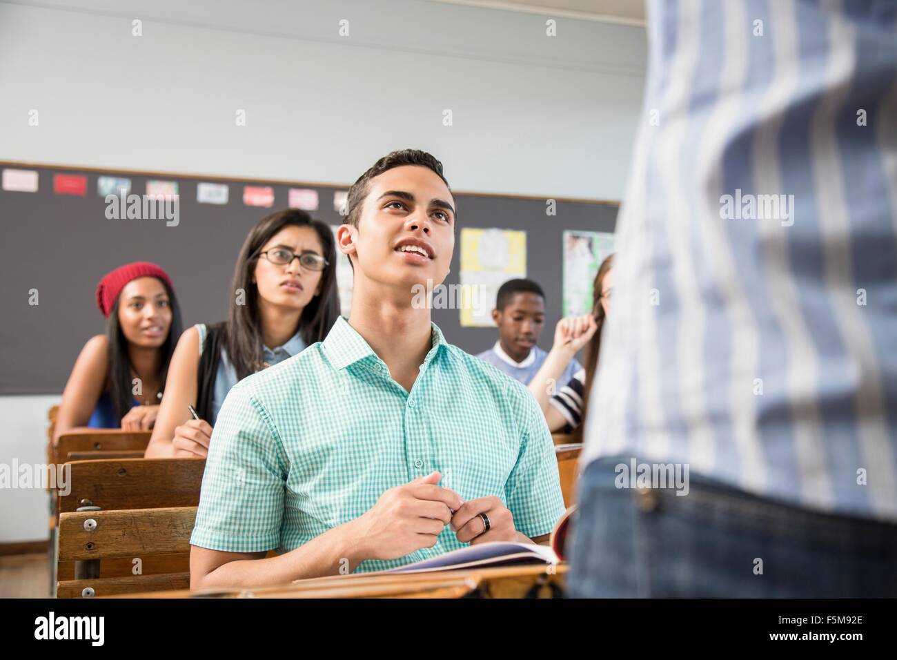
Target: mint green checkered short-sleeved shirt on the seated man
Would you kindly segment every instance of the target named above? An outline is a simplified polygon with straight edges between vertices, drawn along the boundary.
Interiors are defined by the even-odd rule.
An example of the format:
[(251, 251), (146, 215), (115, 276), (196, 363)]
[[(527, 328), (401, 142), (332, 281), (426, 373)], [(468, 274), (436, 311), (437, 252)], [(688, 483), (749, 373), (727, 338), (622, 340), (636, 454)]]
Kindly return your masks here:
[[(432, 348), (405, 392), (341, 317), (323, 342), (228, 394), (190, 542), (293, 550), (434, 470), (465, 501), (500, 497), (529, 537), (551, 532), (564, 510), (551, 435), (526, 387), (448, 344), (433, 324)], [(357, 570), (464, 546), (447, 525), (434, 547)]]

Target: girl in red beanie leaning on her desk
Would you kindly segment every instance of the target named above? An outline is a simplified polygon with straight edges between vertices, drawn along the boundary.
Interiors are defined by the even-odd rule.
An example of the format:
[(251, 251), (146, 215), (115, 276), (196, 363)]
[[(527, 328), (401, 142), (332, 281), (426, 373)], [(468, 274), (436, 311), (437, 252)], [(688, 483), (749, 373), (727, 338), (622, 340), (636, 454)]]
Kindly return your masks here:
[(180, 311), (171, 279), (135, 261), (97, 286), (106, 334), (92, 337), (74, 363), (59, 406), (54, 441), (77, 427), (146, 431), (159, 411)]

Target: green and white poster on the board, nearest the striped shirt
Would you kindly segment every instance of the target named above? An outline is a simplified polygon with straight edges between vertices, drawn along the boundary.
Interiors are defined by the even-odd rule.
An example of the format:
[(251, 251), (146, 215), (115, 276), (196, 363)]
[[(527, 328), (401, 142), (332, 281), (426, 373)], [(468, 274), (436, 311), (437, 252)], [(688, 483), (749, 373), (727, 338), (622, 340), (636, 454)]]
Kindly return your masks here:
[(592, 311), (592, 281), (601, 262), (614, 251), (614, 234), (563, 233), (563, 315), (580, 316)]

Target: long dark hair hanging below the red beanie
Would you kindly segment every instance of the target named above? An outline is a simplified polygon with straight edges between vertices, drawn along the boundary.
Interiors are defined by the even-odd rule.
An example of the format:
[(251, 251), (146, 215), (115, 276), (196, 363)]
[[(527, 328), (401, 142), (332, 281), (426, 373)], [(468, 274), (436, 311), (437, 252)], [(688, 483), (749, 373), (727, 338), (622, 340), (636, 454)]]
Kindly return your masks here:
[[(165, 379), (168, 377), (168, 366), (171, 362), (171, 354), (180, 338), (181, 321), (178, 299), (174, 290), (163, 279), (159, 280), (165, 287), (165, 293), (169, 296), (171, 307), (171, 325), (165, 343), (161, 345), (161, 372), (159, 374), (160, 392), (165, 389)], [(109, 339), (109, 399), (112, 400), (112, 409), (119, 419), (125, 417), (131, 409), (131, 400), (134, 399), (134, 390), (131, 375), (131, 358), (127, 355), (127, 339), (118, 322), (118, 296), (112, 310), (109, 312), (109, 321), (106, 322), (106, 336)]]

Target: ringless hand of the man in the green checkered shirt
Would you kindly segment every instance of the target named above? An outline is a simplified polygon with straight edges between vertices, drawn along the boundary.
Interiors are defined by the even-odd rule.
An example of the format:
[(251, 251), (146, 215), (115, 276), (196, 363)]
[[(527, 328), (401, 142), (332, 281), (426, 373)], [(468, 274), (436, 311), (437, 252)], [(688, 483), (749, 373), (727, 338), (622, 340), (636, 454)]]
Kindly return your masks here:
[(389, 488), (370, 511), (353, 521), (359, 559), (398, 559), (436, 545), (442, 528), (463, 502), (454, 490), (436, 484), (439, 472)]

